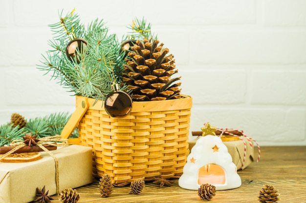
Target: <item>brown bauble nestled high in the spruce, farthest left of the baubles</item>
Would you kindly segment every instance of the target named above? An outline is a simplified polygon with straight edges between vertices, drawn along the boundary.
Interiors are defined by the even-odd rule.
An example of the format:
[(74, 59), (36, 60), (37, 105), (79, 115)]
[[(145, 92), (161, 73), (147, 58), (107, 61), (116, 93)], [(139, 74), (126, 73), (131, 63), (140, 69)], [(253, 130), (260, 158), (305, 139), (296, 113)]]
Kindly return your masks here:
[[(70, 37), (69, 37), (70, 38)], [(84, 53), (87, 47), (87, 41), (83, 38), (72, 38), (72, 40), (67, 44), (66, 55), (71, 62), (74, 62), (76, 57), (76, 62), (79, 63), (81, 58), (77, 53)]]

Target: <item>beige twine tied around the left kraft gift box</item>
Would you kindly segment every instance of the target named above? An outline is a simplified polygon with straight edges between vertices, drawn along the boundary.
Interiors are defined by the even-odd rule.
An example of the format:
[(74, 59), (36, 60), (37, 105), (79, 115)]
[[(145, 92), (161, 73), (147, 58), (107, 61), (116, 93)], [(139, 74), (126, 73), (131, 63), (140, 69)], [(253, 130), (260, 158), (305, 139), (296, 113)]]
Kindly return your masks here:
[[(5, 153), (2, 157), (0, 157), (0, 160), (4, 159), (5, 157), (9, 156), (10, 154), (13, 154), (15, 151), (17, 151), (20, 148), (23, 148), (27, 146), (23, 142), (24, 140), (13, 140), (10, 146), (13, 146), (12, 150), (8, 151)], [(58, 194), (59, 191), (59, 162), (58, 159), (52, 154), (47, 148), (43, 146), (43, 144), (47, 144), (50, 146), (56, 146), (56, 147), (61, 147), (61, 146), (67, 146), (68, 145), (68, 139), (63, 139), (61, 138), (61, 135), (55, 135), (55, 136), (50, 136), (50, 137), (43, 137), (39, 139), (39, 142), (36, 143), (36, 145), (40, 148), (42, 148), (45, 152), (47, 152), (55, 162), (55, 183), (56, 183), (56, 193)]]

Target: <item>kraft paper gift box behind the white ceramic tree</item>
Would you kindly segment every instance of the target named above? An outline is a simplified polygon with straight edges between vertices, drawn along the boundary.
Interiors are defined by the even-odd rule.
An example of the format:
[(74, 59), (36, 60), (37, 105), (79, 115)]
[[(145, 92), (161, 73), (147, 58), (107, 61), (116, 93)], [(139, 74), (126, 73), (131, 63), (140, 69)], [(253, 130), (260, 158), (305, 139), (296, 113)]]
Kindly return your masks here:
[[(234, 140), (234, 141), (223, 141), (223, 144), (227, 147), (228, 152), (232, 156), (233, 163), (237, 166), (237, 169), (244, 169), (249, 166), (254, 161), (254, 147), (251, 147), (249, 141), (246, 137), (240, 136), (241, 139), (244, 140), (246, 144), (246, 155), (245, 161), (243, 164), (243, 156), (244, 156), (244, 143), (242, 140)], [(189, 141), (189, 150), (191, 150), (197, 142), (197, 139)], [(251, 142), (252, 139), (250, 138)], [(253, 145), (253, 143), (252, 143)]]

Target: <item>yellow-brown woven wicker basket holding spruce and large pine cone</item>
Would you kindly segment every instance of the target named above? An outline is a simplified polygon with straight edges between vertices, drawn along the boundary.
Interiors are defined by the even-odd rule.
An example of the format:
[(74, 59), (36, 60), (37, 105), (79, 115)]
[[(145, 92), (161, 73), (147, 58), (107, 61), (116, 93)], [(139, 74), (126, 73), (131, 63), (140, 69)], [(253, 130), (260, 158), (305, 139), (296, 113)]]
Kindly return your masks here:
[(133, 102), (131, 113), (120, 119), (107, 114), (102, 100), (94, 103), (76, 96), (77, 109), (62, 133), (69, 137), (77, 124), (79, 144), (93, 148), (94, 175), (108, 173), (117, 186), (180, 177), (189, 154), (190, 96)]

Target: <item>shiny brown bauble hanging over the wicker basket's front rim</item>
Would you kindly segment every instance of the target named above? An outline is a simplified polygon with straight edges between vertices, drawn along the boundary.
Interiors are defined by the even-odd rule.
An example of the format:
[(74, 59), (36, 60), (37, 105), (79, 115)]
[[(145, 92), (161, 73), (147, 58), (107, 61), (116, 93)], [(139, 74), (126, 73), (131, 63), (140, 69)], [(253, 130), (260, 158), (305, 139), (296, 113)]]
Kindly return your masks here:
[(132, 99), (127, 92), (119, 90), (119, 85), (114, 83), (111, 85), (111, 92), (104, 102), (105, 111), (111, 117), (125, 117), (132, 109)]

